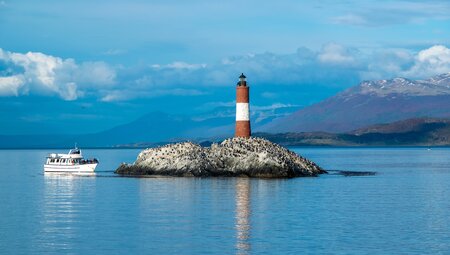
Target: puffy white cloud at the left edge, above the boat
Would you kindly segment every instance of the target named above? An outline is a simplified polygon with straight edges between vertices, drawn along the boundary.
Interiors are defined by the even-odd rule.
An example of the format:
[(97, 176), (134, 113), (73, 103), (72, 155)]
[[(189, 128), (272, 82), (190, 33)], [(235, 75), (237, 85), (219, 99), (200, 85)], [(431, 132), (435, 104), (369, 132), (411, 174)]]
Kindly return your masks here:
[(98, 86), (115, 83), (115, 71), (103, 62), (77, 64), (40, 52), (26, 54), (0, 49), (0, 63), (6, 66), (0, 73), (0, 95), (58, 95), (75, 100)]

